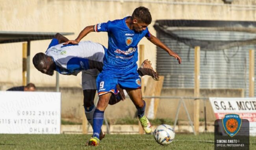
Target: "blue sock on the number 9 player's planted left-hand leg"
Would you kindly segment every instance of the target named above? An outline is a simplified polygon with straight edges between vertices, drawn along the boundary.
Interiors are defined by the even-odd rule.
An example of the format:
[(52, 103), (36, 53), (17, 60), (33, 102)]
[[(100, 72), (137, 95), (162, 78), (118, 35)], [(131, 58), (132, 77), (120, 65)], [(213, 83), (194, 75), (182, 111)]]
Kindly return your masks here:
[(103, 124), (104, 111), (100, 111), (97, 108), (93, 114), (93, 137), (100, 139), (100, 130)]

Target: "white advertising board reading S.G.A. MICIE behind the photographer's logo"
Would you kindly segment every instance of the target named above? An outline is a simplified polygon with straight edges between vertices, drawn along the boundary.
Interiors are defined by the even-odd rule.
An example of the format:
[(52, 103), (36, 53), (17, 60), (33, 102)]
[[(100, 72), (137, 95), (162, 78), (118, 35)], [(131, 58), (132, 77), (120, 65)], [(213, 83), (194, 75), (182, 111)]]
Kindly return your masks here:
[(228, 113), (236, 113), (241, 119), (250, 122), (250, 135), (256, 136), (256, 97), (223, 98), (210, 97), (216, 119), (223, 119)]

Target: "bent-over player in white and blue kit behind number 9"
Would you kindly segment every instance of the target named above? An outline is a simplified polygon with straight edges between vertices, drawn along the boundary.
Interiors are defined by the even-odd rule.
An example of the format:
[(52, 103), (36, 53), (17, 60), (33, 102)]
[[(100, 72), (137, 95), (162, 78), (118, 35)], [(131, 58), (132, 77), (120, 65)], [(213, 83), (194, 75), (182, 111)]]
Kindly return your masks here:
[[(96, 77), (102, 70), (105, 51), (104, 46), (91, 41), (82, 41), (78, 44), (63, 45), (68, 39), (57, 33), (52, 39), (45, 53), (37, 53), (33, 57), (33, 64), (37, 70), (47, 75), (58, 71), (63, 75), (77, 75), (82, 71), (83, 106), (88, 122), (93, 126), (95, 111), (94, 97), (96, 94)], [(138, 70), (141, 76), (150, 75), (159, 80), (158, 74), (151, 67), (150, 61), (145, 60)], [(117, 85), (118, 87), (118, 85)], [(109, 104), (115, 104), (123, 99), (123, 90), (118, 95), (112, 94)], [(100, 133), (100, 139), (104, 133)]]

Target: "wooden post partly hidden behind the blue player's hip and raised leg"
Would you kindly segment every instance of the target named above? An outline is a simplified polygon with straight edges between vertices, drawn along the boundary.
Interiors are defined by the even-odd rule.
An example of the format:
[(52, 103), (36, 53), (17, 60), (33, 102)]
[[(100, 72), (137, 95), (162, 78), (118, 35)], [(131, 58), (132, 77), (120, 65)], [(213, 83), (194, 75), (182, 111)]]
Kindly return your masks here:
[[(142, 62), (144, 61), (144, 48), (145, 46), (144, 45), (139, 45), (139, 65), (142, 64)], [(142, 92), (142, 95), (144, 95), (144, 90), (145, 90), (145, 86), (144, 86), (144, 79), (141, 78), (141, 92)], [(141, 126), (141, 123), (139, 122), (139, 134), (143, 134), (144, 133), (144, 130)]]

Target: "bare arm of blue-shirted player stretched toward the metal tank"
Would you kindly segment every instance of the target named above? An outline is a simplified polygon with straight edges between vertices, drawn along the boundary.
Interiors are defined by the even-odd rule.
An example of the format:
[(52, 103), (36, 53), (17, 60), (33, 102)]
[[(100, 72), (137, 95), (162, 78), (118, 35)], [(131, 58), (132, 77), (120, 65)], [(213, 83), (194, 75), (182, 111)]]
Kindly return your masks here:
[(176, 54), (174, 51), (172, 51), (170, 48), (168, 48), (165, 44), (163, 44), (157, 37), (150, 34), (150, 37), (148, 37), (147, 39), (156, 46), (159, 46), (160, 48), (164, 49), (170, 56), (173, 56), (175, 59), (177, 59), (179, 61), (179, 64), (181, 63), (180, 56)]

